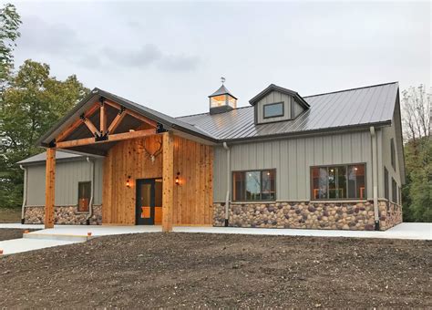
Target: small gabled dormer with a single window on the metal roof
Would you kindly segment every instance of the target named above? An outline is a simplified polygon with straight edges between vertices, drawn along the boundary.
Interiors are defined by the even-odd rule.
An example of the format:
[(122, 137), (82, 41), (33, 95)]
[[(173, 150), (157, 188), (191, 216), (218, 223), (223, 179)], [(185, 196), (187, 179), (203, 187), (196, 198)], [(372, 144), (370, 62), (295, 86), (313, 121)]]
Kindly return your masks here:
[(309, 109), (309, 104), (295, 91), (271, 84), (249, 100), (255, 110), (255, 123), (291, 120)]

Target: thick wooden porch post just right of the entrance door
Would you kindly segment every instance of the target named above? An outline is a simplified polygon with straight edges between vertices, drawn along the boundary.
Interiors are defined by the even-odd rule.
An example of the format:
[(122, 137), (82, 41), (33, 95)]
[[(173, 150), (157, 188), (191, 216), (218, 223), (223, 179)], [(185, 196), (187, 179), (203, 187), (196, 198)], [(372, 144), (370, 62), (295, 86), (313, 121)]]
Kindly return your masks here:
[(172, 209), (174, 203), (174, 146), (172, 133), (162, 136), (162, 232), (172, 231)]

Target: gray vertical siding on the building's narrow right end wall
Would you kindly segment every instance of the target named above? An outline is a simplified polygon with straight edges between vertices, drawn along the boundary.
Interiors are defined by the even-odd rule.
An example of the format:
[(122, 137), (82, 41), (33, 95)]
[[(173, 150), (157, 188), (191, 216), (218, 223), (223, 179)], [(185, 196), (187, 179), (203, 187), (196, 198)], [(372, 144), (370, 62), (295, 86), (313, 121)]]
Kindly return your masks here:
[[(395, 119), (392, 120), (392, 126), (391, 127), (385, 127), (382, 129), (382, 154), (383, 154), (383, 163), (381, 169), (384, 171), (384, 167), (386, 167), (388, 171), (388, 197), (390, 199), (392, 196), (392, 178), (395, 179), (397, 186), (400, 187), (401, 182), (401, 176), (400, 176), (400, 166), (399, 166), (399, 154), (397, 152), (397, 140), (396, 140), (396, 129), (395, 129)], [(391, 147), (390, 147), (390, 140), (393, 139), (395, 141), (395, 168), (392, 167), (392, 159), (391, 159)], [(381, 188), (379, 190), (379, 196), (384, 197), (384, 172), (381, 173), (381, 177), (378, 180), (379, 187)]]

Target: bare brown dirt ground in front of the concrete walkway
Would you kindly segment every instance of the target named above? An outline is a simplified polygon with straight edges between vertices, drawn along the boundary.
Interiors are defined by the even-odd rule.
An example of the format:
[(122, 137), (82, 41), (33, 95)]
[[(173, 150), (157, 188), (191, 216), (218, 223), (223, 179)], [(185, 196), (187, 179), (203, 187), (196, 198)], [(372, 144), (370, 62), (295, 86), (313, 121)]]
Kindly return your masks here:
[(108, 236), (0, 259), (0, 308), (432, 307), (432, 243)]

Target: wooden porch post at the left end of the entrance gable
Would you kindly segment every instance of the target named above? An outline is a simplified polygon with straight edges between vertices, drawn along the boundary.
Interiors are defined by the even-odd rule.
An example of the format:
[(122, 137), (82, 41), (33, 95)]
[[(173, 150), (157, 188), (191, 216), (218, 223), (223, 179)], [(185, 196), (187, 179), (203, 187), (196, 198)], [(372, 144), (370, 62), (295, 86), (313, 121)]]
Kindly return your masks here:
[(45, 228), (54, 228), (56, 149), (46, 149)]

